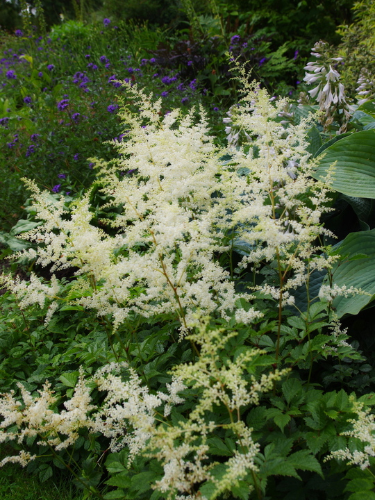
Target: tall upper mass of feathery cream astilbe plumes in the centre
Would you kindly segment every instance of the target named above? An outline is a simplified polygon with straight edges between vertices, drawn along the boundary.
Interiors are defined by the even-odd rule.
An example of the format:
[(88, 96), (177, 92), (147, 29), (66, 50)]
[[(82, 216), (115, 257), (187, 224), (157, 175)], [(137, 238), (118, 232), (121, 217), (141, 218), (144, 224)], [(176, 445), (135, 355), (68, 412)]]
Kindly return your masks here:
[[(249, 142), (228, 150), (215, 147), (203, 110), (199, 123), (194, 110), (161, 116), (160, 100), (153, 103), (136, 85), (124, 83), (140, 110), (123, 108), (130, 131), (128, 140), (115, 142), (122, 158), (96, 160), (101, 193), (111, 200), (106, 207), (121, 208), (108, 222), (116, 235), (92, 224), (90, 192), (67, 207), (63, 197), (56, 202), (26, 181), (44, 222), (22, 235), (38, 244), (22, 255), (52, 264), (52, 272), (78, 267), (74, 286), (82, 297), (76, 302), (112, 315), (114, 328), (132, 312), (144, 317), (177, 312), (182, 331), (194, 324), (198, 310), (224, 318), (235, 310), (245, 323), (259, 317), (253, 308), (236, 306), (246, 296), (236, 294), (228, 270), (215, 258), (237, 240), (251, 249), (238, 269), (262, 260), (285, 263), (281, 283), (265, 285), (264, 292), (292, 302), (290, 289), (306, 283), (313, 269), (331, 265), (314, 244), (331, 234), (319, 222), (328, 210), (328, 185), (311, 177), (308, 120), (285, 128), (275, 121), (285, 99), (270, 102), (244, 74), (242, 82), (245, 94), (235, 123)], [(230, 162), (222, 160), (226, 153)], [(121, 177), (119, 170), (133, 173)], [(31, 286), (3, 281), (21, 300)], [(41, 304), (40, 293), (34, 301)], [(58, 307), (56, 292), (45, 293), (53, 301), (49, 319)]]

